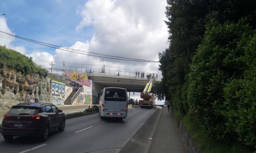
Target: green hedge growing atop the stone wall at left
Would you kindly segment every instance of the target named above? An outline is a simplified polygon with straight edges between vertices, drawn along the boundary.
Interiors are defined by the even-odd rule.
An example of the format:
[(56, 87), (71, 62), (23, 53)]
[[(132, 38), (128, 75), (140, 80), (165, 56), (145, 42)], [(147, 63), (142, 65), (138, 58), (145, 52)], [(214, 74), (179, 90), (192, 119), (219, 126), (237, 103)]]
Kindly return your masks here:
[(14, 69), (22, 74), (39, 74), (46, 77), (48, 71), (41, 66), (35, 65), (32, 58), (6, 47), (0, 46), (0, 68)]

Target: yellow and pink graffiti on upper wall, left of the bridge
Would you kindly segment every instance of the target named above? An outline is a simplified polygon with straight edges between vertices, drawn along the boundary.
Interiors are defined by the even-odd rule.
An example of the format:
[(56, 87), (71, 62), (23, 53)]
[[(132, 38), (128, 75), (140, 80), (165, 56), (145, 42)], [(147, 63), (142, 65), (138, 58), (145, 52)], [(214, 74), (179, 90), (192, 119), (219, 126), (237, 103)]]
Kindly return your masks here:
[(91, 80), (87, 80), (86, 73), (77, 73), (77, 72), (68, 72), (65, 71), (65, 75), (67, 78), (74, 80), (84, 86), (91, 87)]

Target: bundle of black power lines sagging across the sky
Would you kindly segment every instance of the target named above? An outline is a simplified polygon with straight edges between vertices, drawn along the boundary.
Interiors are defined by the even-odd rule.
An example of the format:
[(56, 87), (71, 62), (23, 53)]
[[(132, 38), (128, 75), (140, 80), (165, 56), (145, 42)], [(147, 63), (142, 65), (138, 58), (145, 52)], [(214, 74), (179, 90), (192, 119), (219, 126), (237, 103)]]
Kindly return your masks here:
[[(63, 51), (72, 50), (72, 51), (69, 51), (69, 52), (83, 54), (83, 55), (102, 57), (102, 58), (109, 58), (109, 59), (119, 59), (119, 60), (126, 60), (126, 61), (139, 61), (139, 62), (159, 63), (159, 61), (151, 61), (151, 60), (144, 60), (144, 59), (133, 59), (133, 58), (128, 58), (128, 57), (119, 57), (119, 56), (112, 56), (112, 55), (106, 55), (106, 54), (100, 54), (100, 53), (93, 53), (93, 52), (88, 52), (88, 51), (81, 51), (81, 50), (77, 50), (77, 49), (70, 49), (70, 48), (67, 48), (67, 47), (61, 47), (61, 46), (54, 45), (54, 44), (48, 44), (48, 43), (45, 43), (45, 42), (40, 42), (40, 41), (36, 41), (36, 40), (33, 40), (33, 39), (28, 39), (28, 38), (16, 36), (14, 34), (9, 34), (7, 32), (3, 32), (3, 31), (0, 31), (0, 32), (2, 32), (4, 34), (7, 34), (9, 36), (13, 36), (13, 37), (16, 37), (16, 38), (19, 38), (19, 39), (22, 39), (22, 40), (26, 40), (26, 41), (29, 41), (29, 42), (33, 42), (33, 43), (36, 43), (36, 44), (40, 44), (40, 45), (43, 45), (43, 46), (47, 46), (47, 47), (51, 47), (51, 48), (55, 48), (55, 49), (60, 49), (60, 50), (63, 50)], [(69, 49), (69, 50), (66, 50), (66, 49)], [(79, 52), (76, 52), (76, 51), (79, 51)], [(85, 53), (90, 53), (90, 54), (85, 54), (85, 53), (80, 53), (80, 52), (85, 52)], [(91, 54), (96, 54), (96, 55), (91, 55)], [(99, 55), (109, 56), (109, 57), (103, 57), (103, 56), (99, 56)], [(115, 58), (113, 58), (113, 57), (115, 57)]]

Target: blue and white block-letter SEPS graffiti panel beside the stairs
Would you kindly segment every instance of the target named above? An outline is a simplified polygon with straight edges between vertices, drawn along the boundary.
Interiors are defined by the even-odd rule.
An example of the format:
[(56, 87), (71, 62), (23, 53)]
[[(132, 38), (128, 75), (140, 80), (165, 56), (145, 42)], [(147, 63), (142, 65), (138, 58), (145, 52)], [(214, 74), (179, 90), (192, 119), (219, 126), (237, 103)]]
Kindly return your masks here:
[(60, 82), (51, 81), (51, 96), (58, 98), (65, 98), (65, 84)]

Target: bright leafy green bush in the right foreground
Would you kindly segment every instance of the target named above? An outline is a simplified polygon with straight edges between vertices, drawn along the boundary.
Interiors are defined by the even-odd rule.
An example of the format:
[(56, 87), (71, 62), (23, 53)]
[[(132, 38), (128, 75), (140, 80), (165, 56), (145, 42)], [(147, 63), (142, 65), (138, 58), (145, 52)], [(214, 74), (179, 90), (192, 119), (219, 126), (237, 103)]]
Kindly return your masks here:
[(190, 65), (189, 116), (210, 137), (256, 147), (256, 31), (242, 20), (206, 27)]

